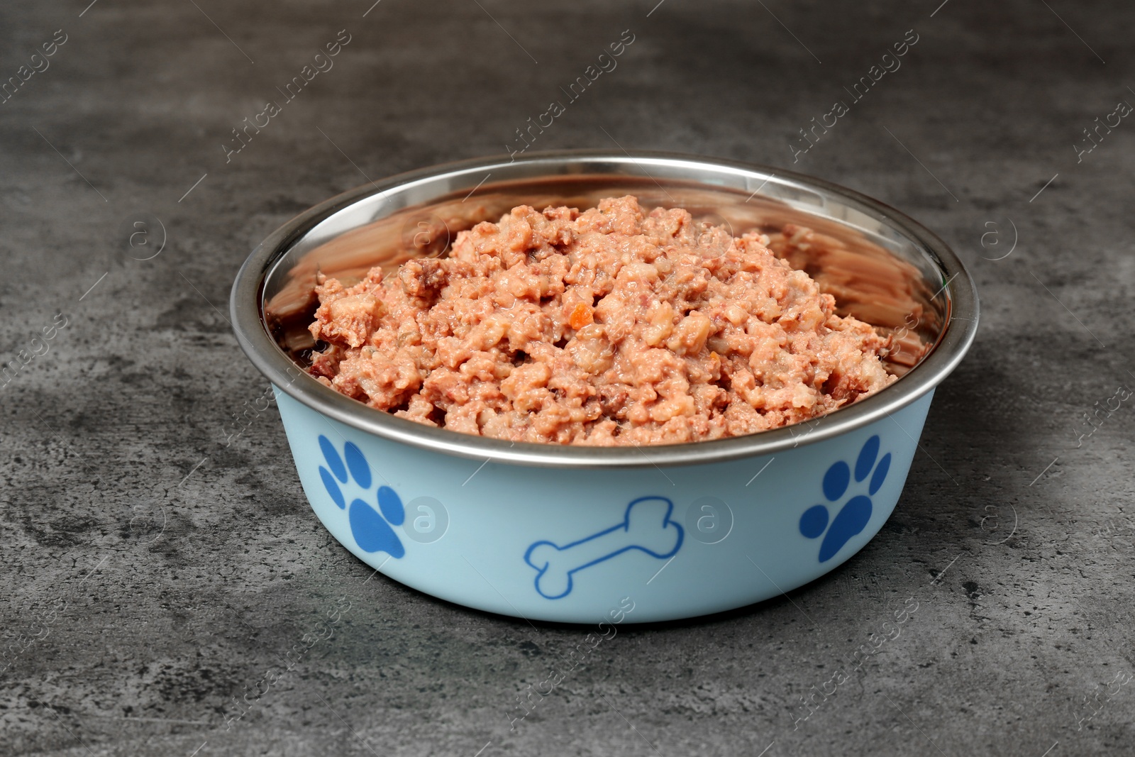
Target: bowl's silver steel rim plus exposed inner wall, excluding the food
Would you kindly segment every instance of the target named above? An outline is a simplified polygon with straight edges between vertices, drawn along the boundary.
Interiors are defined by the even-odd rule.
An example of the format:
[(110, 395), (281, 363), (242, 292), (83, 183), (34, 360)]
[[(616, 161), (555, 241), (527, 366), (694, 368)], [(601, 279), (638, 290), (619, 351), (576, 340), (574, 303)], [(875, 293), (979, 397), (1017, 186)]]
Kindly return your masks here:
[[(373, 266), (444, 254), (455, 236), (520, 204), (583, 210), (634, 194), (644, 208), (684, 208), (697, 221), (758, 230), (770, 246), (852, 314), (902, 348), (882, 392), (809, 421), (805, 443), (889, 415), (930, 392), (976, 333), (977, 297), (957, 256), (924, 227), (856, 192), (781, 169), (664, 153), (564, 152), (435, 167), (364, 185), (312, 208), (249, 258), (232, 303), (237, 338), (284, 392), (368, 432), (451, 454), (535, 465), (639, 466), (728, 460), (801, 443), (791, 427), (748, 437), (642, 449), (561, 448), (432, 429), (364, 405), (296, 370), (316, 347), (308, 326), (317, 274), (344, 283)], [(806, 243), (792, 228), (814, 232)], [(956, 321), (961, 321), (957, 323)]]

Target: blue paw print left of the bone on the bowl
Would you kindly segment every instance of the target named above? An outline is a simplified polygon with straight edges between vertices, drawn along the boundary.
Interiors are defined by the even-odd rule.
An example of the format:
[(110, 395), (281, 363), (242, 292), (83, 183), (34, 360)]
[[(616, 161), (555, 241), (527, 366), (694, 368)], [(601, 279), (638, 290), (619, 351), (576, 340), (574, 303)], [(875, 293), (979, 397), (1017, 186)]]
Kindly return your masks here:
[[(343, 496), (340, 483), (347, 483), (354, 479), (355, 485), (365, 489), (364, 496), (370, 496), (370, 486), (373, 479), (370, 474), (370, 465), (362, 454), (362, 449), (353, 443), (347, 441), (343, 447), (343, 455), (331, 444), (330, 439), (320, 435), (319, 448), (323, 451), (323, 460), (327, 466), (319, 466), (319, 477), (323, 479), (323, 487), (327, 494), (340, 510), (347, 511), (347, 520), (351, 522), (351, 535), (355, 544), (363, 552), (385, 552), (390, 557), (402, 557), (406, 554), (405, 547), (394, 532), (390, 525), (402, 525), (406, 520), (406, 512), (402, 506), (402, 498), (388, 486), (378, 487), (378, 508), (363, 499), (352, 499), (350, 508), (346, 498)], [(344, 464), (344, 461), (346, 463)], [(381, 512), (381, 514), (379, 514)]]

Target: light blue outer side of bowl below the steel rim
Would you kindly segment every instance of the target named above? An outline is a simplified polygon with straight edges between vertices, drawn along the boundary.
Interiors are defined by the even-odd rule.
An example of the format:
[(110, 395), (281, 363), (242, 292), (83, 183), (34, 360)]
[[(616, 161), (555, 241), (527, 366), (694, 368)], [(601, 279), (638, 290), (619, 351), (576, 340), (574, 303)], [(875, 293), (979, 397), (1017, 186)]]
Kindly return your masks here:
[[(775, 455), (594, 470), (479, 464), (360, 431), (278, 388), (276, 397), (316, 515), (368, 565), (478, 609), (598, 623), (675, 620), (740, 607), (789, 591), (848, 560), (894, 508), (933, 390), (874, 423)], [(801, 439), (807, 430), (800, 427)], [(876, 436), (880, 462), (856, 471), (865, 443)], [(346, 455), (353, 465), (342, 462), (348, 443), (363, 464), (358, 454)], [(328, 447), (334, 448), (329, 456)], [(886, 454), (886, 476), (869, 494)], [(841, 493), (838, 471), (833, 473), (830, 501), (825, 476), (839, 461), (851, 471), (850, 485)], [(865, 473), (861, 481), (857, 472)], [(325, 479), (334, 481), (343, 507)], [(871, 504), (865, 506), (863, 497)], [(830, 513), (829, 532), (851, 535), (841, 547), (843, 540), (829, 533), (809, 538), (801, 532), (801, 515), (816, 505)], [(822, 511), (815, 510), (808, 522), (818, 528), (822, 520)], [(825, 548), (833, 554), (822, 555)], [(624, 616), (631, 604), (633, 611)]]

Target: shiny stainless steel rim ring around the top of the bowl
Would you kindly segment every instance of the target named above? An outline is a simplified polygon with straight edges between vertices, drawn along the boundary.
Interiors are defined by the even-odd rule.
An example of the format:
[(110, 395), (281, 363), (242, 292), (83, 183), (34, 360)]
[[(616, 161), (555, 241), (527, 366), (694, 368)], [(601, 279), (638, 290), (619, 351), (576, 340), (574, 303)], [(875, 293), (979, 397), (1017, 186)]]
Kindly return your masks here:
[[(815, 190), (839, 196), (857, 209), (885, 219), (916, 244), (938, 269), (942, 293), (949, 303), (949, 320), (933, 347), (909, 373), (882, 392), (855, 404), (809, 421), (749, 436), (711, 441), (695, 441), (649, 447), (587, 447), (536, 443), (510, 443), (501, 439), (431, 428), (368, 407), (338, 394), (297, 369), (293, 360), (276, 344), (263, 319), (263, 285), (272, 266), (304, 235), (334, 213), (380, 193), (422, 179), (445, 179), (448, 192), (473, 192), (486, 174), (502, 178), (535, 178), (539, 175), (625, 174), (651, 176), (663, 169), (682, 175), (687, 180), (713, 179), (707, 188), (716, 188), (722, 175), (751, 177), (758, 182), (775, 176), (777, 183), (789, 183), (801, 190)], [(713, 463), (740, 457), (775, 454), (792, 447), (822, 441), (877, 420), (908, 405), (940, 384), (961, 361), (977, 331), (978, 301), (974, 281), (958, 256), (920, 224), (893, 208), (858, 192), (794, 174), (781, 168), (664, 152), (563, 151), (530, 153), (510, 159), (507, 155), (466, 160), (435, 166), (389, 177), (360, 186), (316, 205), (296, 216), (264, 239), (242, 266), (233, 285), (229, 309), (233, 329), (241, 347), (253, 364), (291, 397), (304, 405), (342, 421), (361, 431), (387, 439), (468, 459), (521, 465), (550, 468), (641, 468), (648, 465), (687, 465)]]

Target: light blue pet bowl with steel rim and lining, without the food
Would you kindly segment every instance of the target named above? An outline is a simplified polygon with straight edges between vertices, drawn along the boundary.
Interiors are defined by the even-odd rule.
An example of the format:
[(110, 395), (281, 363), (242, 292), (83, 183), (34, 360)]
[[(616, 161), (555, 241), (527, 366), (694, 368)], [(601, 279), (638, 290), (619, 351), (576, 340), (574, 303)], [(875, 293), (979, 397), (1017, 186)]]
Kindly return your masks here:
[[(421, 426), (303, 371), (317, 271), (393, 269), (514, 205), (586, 208), (613, 194), (687, 208), (734, 235), (789, 222), (824, 234), (830, 242), (793, 264), (835, 294), (841, 312), (898, 331), (901, 378), (794, 427), (591, 448)], [(849, 190), (697, 157), (563, 152), (452, 163), (329, 200), (253, 251), (232, 313), (241, 346), (275, 387), (308, 501), (351, 553), (469, 607), (617, 623), (767, 599), (861, 549), (899, 499), (934, 387), (974, 338), (977, 296), (941, 239)]]

